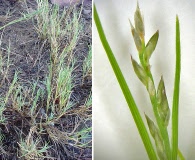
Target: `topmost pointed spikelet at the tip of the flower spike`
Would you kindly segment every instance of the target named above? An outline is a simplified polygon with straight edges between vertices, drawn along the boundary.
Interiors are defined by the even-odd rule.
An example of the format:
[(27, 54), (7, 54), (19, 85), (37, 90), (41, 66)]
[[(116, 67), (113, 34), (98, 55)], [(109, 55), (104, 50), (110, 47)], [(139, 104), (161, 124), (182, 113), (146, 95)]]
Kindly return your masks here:
[(137, 31), (142, 41), (144, 41), (144, 36), (145, 36), (144, 21), (143, 21), (138, 3), (137, 3), (137, 9), (134, 15), (134, 21), (135, 21), (135, 30)]

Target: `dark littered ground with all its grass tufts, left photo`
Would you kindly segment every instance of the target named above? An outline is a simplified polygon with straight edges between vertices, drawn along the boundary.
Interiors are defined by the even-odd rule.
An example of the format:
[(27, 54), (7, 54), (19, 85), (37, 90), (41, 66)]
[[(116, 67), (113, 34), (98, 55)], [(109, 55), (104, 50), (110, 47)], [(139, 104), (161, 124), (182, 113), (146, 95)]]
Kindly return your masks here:
[(91, 159), (91, 3), (0, 2), (0, 159)]

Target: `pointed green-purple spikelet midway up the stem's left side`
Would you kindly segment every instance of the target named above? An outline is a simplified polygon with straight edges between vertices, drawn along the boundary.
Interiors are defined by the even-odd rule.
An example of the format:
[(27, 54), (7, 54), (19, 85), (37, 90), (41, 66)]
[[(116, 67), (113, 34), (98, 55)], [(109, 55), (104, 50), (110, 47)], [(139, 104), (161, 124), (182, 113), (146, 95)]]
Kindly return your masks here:
[(137, 77), (140, 79), (140, 81), (147, 86), (148, 84), (148, 76), (145, 72), (145, 70), (131, 57), (133, 69), (137, 75)]

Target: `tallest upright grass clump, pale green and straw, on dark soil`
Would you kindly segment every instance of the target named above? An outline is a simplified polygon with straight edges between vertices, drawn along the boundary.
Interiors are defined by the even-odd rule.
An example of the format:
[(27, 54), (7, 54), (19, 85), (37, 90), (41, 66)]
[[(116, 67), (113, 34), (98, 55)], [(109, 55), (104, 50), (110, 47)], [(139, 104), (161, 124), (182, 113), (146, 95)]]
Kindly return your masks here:
[[(69, 101), (72, 85), (72, 71), (76, 59), (73, 50), (77, 44), (82, 25), (79, 13), (73, 7), (60, 13), (59, 6), (49, 7), (48, 2), (37, 0), (36, 16), (39, 36), (50, 43), (49, 74), (46, 78), (47, 90), (47, 121), (59, 119), (66, 113), (72, 103)], [(62, 41), (66, 39), (66, 43)], [(62, 46), (63, 45), (63, 46)], [(52, 122), (53, 123), (53, 122)]]

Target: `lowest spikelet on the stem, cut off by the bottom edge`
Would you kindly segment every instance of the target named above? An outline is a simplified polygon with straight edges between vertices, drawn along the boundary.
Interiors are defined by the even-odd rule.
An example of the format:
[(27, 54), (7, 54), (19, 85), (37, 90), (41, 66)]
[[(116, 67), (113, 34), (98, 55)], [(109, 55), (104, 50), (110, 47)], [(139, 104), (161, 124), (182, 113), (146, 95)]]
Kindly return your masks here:
[(152, 137), (154, 138), (154, 141), (156, 144), (156, 150), (157, 150), (158, 156), (159, 156), (160, 160), (166, 160), (167, 156), (166, 156), (166, 152), (165, 152), (165, 146), (163, 143), (163, 139), (160, 136), (159, 129), (156, 127), (154, 122), (146, 114), (145, 114), (145, 116), (146, 116), (146, 120), (148, 123), (150, 133), (151, 133)]

